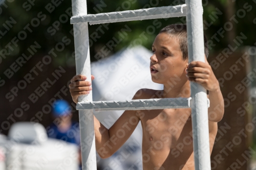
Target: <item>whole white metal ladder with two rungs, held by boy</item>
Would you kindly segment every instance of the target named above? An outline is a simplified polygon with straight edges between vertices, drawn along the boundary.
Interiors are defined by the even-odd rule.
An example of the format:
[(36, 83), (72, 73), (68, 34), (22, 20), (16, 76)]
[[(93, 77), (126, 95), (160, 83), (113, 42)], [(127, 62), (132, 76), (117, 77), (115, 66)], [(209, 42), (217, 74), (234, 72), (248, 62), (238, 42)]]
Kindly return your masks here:
[[(87, 15), (86, 0), (72, 0), (75, 40), (76, 74), (85, 75), (91, 81), (88, 22), (92, 24), (131, 20), (186, 16), (188, 37), (188, 61), (204, 62), (203, 8), (201, 0), (186, 0), (178, 6), (139, 9)], [(196, 170), (210, 170), (208, 107), (206, 89), (190, 82), (190, 98), (148, 99), (131, 101), (92, 101), (92, 92), (78, 98), (81, 135), (82, 169), (96, 170), (96, 149), (93, 109), (142, 110), (164, 108), (191, 108), (193, 144)], [(178, 159), (178, 158), (177, 158)], [(170, 160), (175, 161), (175, 160)]]

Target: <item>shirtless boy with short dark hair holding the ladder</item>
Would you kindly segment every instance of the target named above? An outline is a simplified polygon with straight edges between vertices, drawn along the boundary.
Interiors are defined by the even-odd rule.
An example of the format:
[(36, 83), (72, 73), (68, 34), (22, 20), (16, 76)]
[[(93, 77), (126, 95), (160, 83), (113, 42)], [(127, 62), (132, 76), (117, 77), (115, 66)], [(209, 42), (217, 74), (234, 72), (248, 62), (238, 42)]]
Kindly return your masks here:
[[(200, 61), (188, 63), (186, 25), (169, 25), (156, 36), (152, 52), (150, 58), (152, 81), (163, 84), (164, 88), (163, 90), (140, 89), (133, 100), (188, 98), (189, 81), (201, 84), (208, 90), (207, 96), (210, 100), (208, 123), (211, 153), (217, 134), (217, 123), (224, 114), (224, 101), (219, 82), (206, 59), (207, 43), (205, 43), (205, 63)], [(86, 79), (82, 75), (71, 79), (70, 92), (75, 103), (79, 95), (88, 94), (92, 89), (91, 82), (85, 81)], [(126, 110), (110, 129), (105, 128), (94, 117), (96, 150), (99, 156), (108, 158), (113, 155), (131, 136), (139, 121), (143, 130), (144, 170), (195, 169), (191, 109)]]

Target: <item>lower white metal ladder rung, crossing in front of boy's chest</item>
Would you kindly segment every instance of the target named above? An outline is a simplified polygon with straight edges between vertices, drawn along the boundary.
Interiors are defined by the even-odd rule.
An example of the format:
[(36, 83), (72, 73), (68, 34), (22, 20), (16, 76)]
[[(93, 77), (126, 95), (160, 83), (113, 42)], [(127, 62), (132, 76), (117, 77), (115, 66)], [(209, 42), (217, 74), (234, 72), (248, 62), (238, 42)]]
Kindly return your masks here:
[(130, 101), (78, 102), (77, 110), (152, 110), (167, 108), (190, 108), (191, 98), (140, 99)]

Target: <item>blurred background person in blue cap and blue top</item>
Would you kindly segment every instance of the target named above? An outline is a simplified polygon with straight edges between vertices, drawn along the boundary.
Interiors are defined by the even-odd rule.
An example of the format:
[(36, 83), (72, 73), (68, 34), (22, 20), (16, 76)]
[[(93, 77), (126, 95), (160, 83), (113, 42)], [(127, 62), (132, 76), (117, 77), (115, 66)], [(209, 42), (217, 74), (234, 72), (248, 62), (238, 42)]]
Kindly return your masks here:
[(79, 123), (72, 120), (71, 106), (65, 100), (56, 100), (53, 104), (53, 123), (47, 130), (48, 137), (74, 143), (79, 148), (79, 163), (81, 169), (80, 131)]

